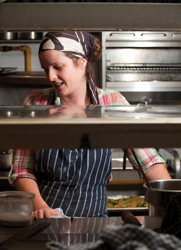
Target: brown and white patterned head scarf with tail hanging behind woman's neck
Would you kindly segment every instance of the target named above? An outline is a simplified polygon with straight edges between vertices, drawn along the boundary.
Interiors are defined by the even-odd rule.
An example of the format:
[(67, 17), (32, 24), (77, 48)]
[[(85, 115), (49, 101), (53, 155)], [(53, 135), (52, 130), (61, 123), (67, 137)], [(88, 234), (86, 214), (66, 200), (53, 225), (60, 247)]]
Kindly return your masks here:
[[(45, 50), (58, 50), (76, 57), (91, 59), (95, 37), (87, 32), (48, 32), (39, 47), (39, 53)], [(91, 76), (87, 79), (87, 88), (92, 104), (99, 104), (97, 87)]]

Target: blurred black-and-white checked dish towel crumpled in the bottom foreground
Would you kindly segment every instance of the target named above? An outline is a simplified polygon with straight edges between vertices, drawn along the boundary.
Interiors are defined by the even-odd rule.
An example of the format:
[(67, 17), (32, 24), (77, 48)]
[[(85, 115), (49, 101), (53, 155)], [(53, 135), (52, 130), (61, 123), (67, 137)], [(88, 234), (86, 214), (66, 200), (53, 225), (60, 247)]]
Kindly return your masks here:
[(174, 235), (125, 224), (107, 225), (101, 231), (100, 239), (91, 243), (67, 246), (50, 241), (46, 247), (49, 250), (181, 250), (181, 241)]

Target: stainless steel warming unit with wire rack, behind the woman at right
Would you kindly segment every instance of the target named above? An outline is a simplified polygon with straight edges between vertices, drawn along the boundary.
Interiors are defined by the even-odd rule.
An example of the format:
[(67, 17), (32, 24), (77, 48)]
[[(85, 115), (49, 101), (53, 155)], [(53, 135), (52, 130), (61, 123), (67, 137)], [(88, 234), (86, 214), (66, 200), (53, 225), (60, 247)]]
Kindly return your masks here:
[(130, 103), (179, 102), (181, 32), (103, 32), (103, 87), (120, 91)]

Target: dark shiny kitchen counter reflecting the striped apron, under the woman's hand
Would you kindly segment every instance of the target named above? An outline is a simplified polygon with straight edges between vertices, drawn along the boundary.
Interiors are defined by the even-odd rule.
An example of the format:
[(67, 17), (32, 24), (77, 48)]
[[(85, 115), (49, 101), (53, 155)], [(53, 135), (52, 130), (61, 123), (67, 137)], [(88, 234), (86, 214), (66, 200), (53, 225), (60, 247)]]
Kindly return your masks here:
[[(149, 229), (159, 228), (162, 217), (137, 216), (143, 227)], [(100, 231), (109, 224), (122, 225), (121, 217), (99, 218), (69, 218), (64, 219), (38, 219), (34, 228), (27, 232), (25, 228), (0, 227), (0, 249), (46, 249), (46, 242), (59, 241), (65, 245), (75, 245), (85, 242), (93, 242), (99, 239)], [(33, 224), (32, 224), (33, 225)], [(44, 227), (38, 233), (36, 228)], [(24, 230), (24, 231), (22, 231)], [(20, 233), (22, 232), (22, 233)], [(18, 234), (19, 233), (19, 234)], [(18, 234), (10, 244), (2, 244), (13, 235)], [(17, 240), (18, 239), (18, 240)]]

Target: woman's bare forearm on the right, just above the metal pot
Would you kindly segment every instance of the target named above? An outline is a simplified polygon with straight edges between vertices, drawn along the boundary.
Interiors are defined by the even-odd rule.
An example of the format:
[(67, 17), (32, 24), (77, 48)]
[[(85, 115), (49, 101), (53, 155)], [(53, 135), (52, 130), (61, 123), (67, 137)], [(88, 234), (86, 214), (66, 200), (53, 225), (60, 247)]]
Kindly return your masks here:
[(152, 165), (147, 169), (145, 175), (148, 181), (171, 179), (170, 174), (163, 163)]

